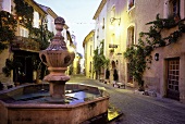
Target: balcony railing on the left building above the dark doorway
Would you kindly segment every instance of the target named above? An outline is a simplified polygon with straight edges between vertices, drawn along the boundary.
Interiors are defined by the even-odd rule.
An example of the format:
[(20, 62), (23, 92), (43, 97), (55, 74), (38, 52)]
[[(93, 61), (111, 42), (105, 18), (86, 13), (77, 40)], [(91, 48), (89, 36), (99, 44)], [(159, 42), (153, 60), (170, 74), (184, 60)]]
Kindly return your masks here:
[(12, 50), (39, 51), (39, 42), (30, 38), (16, 36), (11, 48)]

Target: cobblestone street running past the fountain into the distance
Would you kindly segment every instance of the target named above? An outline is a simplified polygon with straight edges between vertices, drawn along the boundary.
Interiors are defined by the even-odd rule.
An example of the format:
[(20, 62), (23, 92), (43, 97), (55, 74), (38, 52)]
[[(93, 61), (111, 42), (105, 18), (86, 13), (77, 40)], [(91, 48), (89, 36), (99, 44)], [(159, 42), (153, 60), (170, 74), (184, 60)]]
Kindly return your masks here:
[(113, 124), (185, 124), (185, 104), (178, 101), (134, 94), (83, 75), (71, 76), (69, 82), (104, 87), (110, 94), (110, 103), (123, 112)]

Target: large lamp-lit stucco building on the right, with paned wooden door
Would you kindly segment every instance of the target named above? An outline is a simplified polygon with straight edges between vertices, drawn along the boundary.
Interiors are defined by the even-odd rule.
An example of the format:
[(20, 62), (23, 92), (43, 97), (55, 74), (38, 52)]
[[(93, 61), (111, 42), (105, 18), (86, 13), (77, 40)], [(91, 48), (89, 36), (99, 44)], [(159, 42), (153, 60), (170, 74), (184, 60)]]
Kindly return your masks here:
[[(162, 38), (168, 37), (178, 30), (178, 21), (185, 17), (185, 1), (102, 0), (95, 13), (95, 46), (101, 40), (98, 38), (104, 39), (104, 55), (110, 59), (111, 75), (112, 70), (116, 69), (119, 82), (126, 86), (138, 87), (130, 73), (130, 62), (123, 54), (126, 48), (138, 45), (139, 34), (149, 32), (151, 25), (146, 24), (156, 21), (157, 14), (160, 18), (177, 17), (174, 18), (176, 26), (160, 32)], [(103, 33), (100, 32), (101, 23)], [(150, 54), (151, 64), (148, 65), (150, 70), (146, 69), (143, 75), (147, 90), (156, 92), (159, 97), (185, 101), (184, 39), (185, 35), (182, 33), (175, 44), (153, 49)]]

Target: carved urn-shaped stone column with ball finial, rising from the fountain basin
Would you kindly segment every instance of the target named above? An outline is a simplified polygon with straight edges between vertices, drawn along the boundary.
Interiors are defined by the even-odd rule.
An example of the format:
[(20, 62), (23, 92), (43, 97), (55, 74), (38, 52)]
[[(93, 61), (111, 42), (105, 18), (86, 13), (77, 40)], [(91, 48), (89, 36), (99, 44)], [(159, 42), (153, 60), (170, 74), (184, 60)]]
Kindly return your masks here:
[(45, 76), (44, 80), (50, 83), (49, 101), (63, 101), (65, 99), (65, 83), (70, 80), (70, 76), (65, 75), (67, 66), (74, 60), (74, 52), (70, 52), (66, 48), (64, 37), (61, 32), (65, 25), (62, 17), (54, 20), (57, 34), (51, 40), (50, 46), (39, 52), (39, 57), (44, 64), (48, 66), (49, 75)]

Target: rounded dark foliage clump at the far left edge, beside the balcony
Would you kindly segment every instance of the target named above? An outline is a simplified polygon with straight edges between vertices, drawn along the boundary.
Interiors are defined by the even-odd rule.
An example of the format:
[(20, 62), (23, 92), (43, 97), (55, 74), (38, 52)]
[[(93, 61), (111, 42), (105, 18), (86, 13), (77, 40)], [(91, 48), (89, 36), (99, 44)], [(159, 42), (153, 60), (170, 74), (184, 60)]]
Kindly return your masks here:
[(0, 52), (8, 48), (14, 38), (16, 21), (5, 11), (0, 11)]

